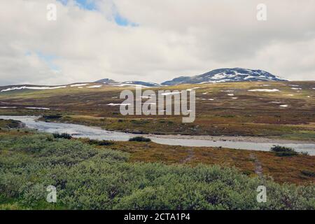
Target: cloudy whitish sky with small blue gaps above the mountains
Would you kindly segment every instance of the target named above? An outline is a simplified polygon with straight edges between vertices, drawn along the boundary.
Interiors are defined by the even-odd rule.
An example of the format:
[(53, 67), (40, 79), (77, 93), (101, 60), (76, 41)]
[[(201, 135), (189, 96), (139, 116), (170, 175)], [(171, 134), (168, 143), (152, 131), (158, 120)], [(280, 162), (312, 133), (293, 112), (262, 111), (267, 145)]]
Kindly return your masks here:
[[(258, 3), (267, 21), (257, 20)], [(315, 0), (1, 0), (0, 8), (0, 85), (160, 83), (222, 67), (315, 80)]]

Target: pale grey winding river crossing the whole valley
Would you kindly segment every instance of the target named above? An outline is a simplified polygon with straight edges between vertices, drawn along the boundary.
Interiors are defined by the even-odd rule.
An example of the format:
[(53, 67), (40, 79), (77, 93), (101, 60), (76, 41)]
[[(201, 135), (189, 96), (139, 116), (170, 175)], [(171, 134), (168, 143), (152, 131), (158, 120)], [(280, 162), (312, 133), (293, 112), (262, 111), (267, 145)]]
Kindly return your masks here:
[(295, 151), (308, 152), (315, 155), (315, 144), (298, 141), (283, 141), (276, 139), (260, 139), (250, 137), (198, 137), (198, 136), (176, 136), (176, 135), (149, 135), (149, 134), (128, 134), (125, 132), (111, 132), (102, 130), (99, 127), (85, 125), (74, 125), (66, 123), (46, 123), (36, 120), (36, 116), (0, 116), (0, 119), (20, 120), (28, 128), (48, 133), (68, 133), (77, 138), (89, 138), (109, 141), (128, 141), (130, 137), (149, 137), (153, 142), (171, 146), (204, 146), (223, 147), (234, 149), (245, 149), (254, 151), (269, 151), (274, 145), (294, 148)]

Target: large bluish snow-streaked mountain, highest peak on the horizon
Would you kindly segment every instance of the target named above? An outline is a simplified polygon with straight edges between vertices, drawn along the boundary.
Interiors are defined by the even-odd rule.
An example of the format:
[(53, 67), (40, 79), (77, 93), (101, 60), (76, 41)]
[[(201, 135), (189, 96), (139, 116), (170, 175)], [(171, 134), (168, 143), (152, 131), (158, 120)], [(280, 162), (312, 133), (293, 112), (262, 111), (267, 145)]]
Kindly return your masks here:
[(228, 83), (241, 81), (285, 81), (267, 71), (252, 69), (216, 69), (199, 76), (181, 76), (166, 81), (162, 85)]

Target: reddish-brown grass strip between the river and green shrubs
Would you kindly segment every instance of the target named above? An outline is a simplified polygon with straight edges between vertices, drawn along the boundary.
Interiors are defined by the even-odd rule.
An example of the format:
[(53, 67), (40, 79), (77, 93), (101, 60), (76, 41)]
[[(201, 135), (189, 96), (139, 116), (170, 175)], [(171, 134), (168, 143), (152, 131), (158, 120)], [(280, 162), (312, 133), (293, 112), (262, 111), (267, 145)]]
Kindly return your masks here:
[(301, 176), (302, 170), (315, 172), (315, 157), (297, 155), (279, 157), (272, 152), (234, 150), (211, 147), (166, 146), (153, 142), (115, 142), (106, 148), (130, 153), (130, 162), (162, 162), (166, 165), (185, 164), (197, 166), (221, 165), (236, 167), (248, 176), (255, 174), (255, 161), (261, 163), (262, 173), (271, 176), (278, 183), (296, 183), (299, 185), (315, 183), (314, 176)]

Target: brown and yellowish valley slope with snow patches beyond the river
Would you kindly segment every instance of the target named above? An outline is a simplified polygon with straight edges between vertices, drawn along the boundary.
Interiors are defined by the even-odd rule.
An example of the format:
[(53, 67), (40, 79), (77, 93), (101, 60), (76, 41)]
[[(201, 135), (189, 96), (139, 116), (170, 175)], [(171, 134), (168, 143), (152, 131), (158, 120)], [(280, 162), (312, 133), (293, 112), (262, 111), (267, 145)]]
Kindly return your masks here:
[(134, 87), (108, 84), (89, 87), (93, 85), (0, 92), (0, 114), (41, 115), (45, 116), (43, 120), (50, 122), (91, 125), (138, 134), (315, 141), (315, 82), (207, 83), (153, 88), (154, 91), (195, 88), (194, 123), (182, 123), (181, 116), (122, 116), (119, 105), (124, 99), (119, 99), (120, 92), (133, 91)]

